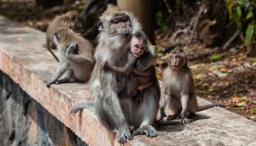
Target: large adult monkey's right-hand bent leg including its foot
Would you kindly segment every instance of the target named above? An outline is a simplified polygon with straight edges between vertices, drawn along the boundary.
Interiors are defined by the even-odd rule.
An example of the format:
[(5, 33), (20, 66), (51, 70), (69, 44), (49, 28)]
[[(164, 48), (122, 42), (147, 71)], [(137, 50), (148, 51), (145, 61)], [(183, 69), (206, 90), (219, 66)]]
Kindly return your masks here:
[(157, 97), (157, 88), (153, 85), (143, 93), (143, 100), (135, 111), (133, 120), (138, 121), (139, 128), (133, 134), (146, 134), (148, 137), (157, 137), (157, 130), (152, 126), (157, 117), (159, 107), (159, 98)]

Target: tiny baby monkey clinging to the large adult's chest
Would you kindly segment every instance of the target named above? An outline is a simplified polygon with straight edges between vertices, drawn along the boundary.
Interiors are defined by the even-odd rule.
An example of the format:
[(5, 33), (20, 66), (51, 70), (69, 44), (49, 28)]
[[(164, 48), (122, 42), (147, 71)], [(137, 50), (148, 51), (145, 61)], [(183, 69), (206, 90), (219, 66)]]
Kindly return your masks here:
[[(147, 37), (143, 31), (138, 31), (132, 35), (130, 41), (130, 50), (128, 50), (128, 61), (123, 67), (113, 66), (108, 62), (101, 62), (102, 69), (109, 70), (120, 74), (129, 74), (129, 82), (127, 87), (127, 94), (129, 96), (135, 96), (136, 91), (143, 91), (152, 84), (151, 75), (154, 74), (151, 68), (148, 68), (142, 72), (133, 72), (138, 58), (143, 55), (147, 46)], [(132, 73), (132, 74), (131, 74)]]

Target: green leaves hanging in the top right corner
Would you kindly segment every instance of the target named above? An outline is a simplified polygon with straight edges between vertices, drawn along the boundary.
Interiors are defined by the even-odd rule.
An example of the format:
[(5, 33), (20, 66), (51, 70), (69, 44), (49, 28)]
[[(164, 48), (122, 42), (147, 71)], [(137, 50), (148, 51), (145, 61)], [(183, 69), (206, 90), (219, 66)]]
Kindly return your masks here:
[(227, 12), (230, 19), (233, 20), (238, 30), (245, 34), (245, 45), (250, 50), (252, 48), (252, 40), (256, 39), (255, 34), (255, 0), (226, 0)]

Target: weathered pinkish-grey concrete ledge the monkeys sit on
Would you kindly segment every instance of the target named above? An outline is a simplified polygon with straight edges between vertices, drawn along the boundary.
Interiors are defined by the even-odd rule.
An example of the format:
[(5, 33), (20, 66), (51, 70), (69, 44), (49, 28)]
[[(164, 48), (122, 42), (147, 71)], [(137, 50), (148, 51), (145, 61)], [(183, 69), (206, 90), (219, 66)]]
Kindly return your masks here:
[[(97, 120), (94, 108), (69, 115), (79, 101), (93, 101), (89, 85), (69, 83), (46, 88), (57, 63), (42, 47), (45, 34), (0, 17), (0, 69), (48, 112), (71, 128), (88, 145), (118, 145)], [(200, 104), (206, 103), (200, 99)], [(159, 128), (159, 137), (136, 136), (129, 145), (256, 145), (256, 123), (220, 107), (199, 112), (187, 126)]]

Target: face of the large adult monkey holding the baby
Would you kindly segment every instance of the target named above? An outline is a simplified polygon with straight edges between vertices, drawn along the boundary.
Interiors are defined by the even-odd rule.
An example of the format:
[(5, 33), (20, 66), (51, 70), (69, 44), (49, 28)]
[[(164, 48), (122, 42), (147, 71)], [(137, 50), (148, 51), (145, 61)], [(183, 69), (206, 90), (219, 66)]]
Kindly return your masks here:
[(128, 35), (132, 34), (131, 22), (128, 15), (118, 15), (110, 19), (110, 34)]

